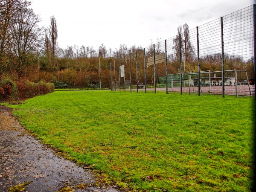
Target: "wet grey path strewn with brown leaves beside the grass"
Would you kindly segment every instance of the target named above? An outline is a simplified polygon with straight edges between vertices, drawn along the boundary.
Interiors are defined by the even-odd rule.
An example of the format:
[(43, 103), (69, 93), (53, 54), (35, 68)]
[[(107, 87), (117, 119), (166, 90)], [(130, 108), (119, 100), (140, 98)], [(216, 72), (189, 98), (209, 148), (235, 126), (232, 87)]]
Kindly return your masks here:
[[(68, 192), (117, 192), (116, 189), (94, 186), (95, 176), (75, 163), (58, 157), (54, 151), (29, 136), (0, 105), (0, 191), (29, 181), (24, 191), (55, 192), (68, 187)], [(85, 189), (79, 189), (82, 183)], [(83, 187), (80, 187), (83, 188)]]

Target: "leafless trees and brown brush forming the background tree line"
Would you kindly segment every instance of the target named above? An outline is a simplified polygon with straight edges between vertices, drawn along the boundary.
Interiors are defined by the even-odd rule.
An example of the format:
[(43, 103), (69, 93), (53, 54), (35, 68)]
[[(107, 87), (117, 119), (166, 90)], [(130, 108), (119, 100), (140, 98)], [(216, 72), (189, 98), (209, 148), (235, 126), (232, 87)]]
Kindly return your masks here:
[[(141, 46), (128, 48), (121, 44), (119, 48), (107, 49), (101, 44), (98, 49), (78, 47), (76, 45), (61, 48), (58, 46), (58, 26), (55, 17), (50, 17), (47, 28), (40, 27), (41, 19), (26, 0), (0, 0), (0, 81), (6, 77), (14, 81), (27, 79), (33, 82), (63, 82), (67, 87), (95, 87), (99, 84), (99, 58), (101, 63), (102, 87), (110, 87), (110, 63), (112, 70), (116, 63), (116, 81), (118, 78), (118, 62), (135, 64), (132, 67), (132, 83), (144, 81), (144, 49)], [(189, 26), (185, 23), (177, 28), (177, 36), (173, 39), (174, 54), (167, 55), (168, 74), (179, 73), (179, 38), (181, 34), (182, 72), (197, 71), (197, 56), (190, 42)], [(160, 54), (161, 38), (157, 38), (155, 53)], [(147, 57), (153, 54), (153, 44), (147, 50)], [(131, 58), (130, 58), (131, 55)], [(253, 58), (244, 61), (241, 56), (225, 55), (225, 69), (244, 69), (253, 77)], [(221, 53), (205, 55), (201, 58), (201, 70), (221, 70)], [(165, 64), (156, 66), (157, 76), (165, 76)], [(126, 74), (129, 69), (126, 67)], [(154, 81), (154, 68), (146, 70), (147, 81)], [(112, 74), (113, 75), (113, 74)], [(113, 77), (114, 79), (114, 77)], [(129, 78), (128, 78), (129, 79)]]

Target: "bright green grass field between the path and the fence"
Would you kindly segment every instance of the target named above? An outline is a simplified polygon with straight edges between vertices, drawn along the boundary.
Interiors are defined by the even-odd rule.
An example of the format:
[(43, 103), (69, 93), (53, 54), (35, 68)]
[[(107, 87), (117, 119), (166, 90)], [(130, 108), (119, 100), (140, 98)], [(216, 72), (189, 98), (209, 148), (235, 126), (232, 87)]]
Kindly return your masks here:
[(10, 105), (43, 143), (136, 191), (250, 191), (253, 101), (58, 91)]

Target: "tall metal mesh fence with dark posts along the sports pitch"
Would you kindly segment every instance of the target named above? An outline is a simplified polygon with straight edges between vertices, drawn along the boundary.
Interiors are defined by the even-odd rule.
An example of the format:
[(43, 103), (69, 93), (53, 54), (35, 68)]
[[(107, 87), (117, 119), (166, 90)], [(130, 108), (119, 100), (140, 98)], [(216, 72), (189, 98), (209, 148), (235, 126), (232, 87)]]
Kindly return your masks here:
[(255, 96), (256, 5), (111, 62), (111, 90)]

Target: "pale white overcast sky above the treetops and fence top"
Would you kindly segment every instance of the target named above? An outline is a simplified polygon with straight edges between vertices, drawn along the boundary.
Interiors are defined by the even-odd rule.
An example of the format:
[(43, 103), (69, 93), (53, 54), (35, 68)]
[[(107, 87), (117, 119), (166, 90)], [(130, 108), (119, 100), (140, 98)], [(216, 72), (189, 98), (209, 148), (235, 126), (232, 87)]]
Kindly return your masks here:
[(84, 45), (107, 49), (120, 44), (148, 47), (151, 39), (177, 34), (177, 27), (189, 29), (251, 6), (255, 0), (32, 0), (41, 26), (50, 25), (54, 15), (58, 45)]

